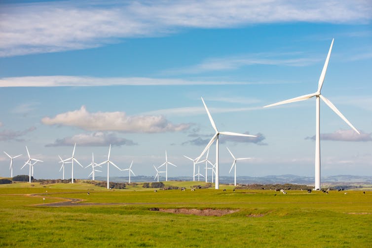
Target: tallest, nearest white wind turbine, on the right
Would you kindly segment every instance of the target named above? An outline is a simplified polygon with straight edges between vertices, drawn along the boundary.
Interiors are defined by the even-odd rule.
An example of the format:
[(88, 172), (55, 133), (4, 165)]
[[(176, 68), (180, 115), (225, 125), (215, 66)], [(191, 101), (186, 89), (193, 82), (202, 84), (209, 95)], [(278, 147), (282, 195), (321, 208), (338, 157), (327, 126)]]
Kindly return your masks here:
[(324, 67), (322, 70), (322, 73), (320, 74), (319, 82), (318, 82), (318, 90), (315, 93), (303, 95), (300, 97), (295, 97), (289, 100), (281, 101), (275, 104), (266, 105), (264, 107), (270, 107), (270, 106), (277, 106), (281, 104), (288, 104), (288, 103), (294, 103), (298, 101), (307, 100), (312, 97), (316, 97), (316, 132), (315, 132), (315, 189), (320, 189), (320, 99), (323, 100), (341, 119), (343, 119), (352, 129), (354, 129), (355, 132), (358, 134), (359, 131), (343, 116), (343, 114), (331, 103), (330, 100), (328, 100), (326, 97), (321, 95), (320, 91), (323, 86), (324, 78), (326, 76), (326, 71), (328, 67), (328, 62), (330, 60), (331, 51), (333, 42), (335, 39), (332, 39), (330, 50), (328, 51), (328, 55), (326, 58), (326, 62), (324, 63)]

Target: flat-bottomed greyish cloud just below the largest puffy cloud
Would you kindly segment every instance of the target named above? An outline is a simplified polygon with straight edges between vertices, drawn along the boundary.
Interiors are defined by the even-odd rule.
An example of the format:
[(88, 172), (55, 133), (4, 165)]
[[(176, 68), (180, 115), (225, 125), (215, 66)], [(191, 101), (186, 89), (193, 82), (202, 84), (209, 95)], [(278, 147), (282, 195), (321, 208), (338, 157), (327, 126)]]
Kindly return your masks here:
[(73, 137), (57, 139), (54, 143), (45, 146), (71, 146), (78, 143), (80, 146), (108, 146), (137, 145), (137, 143), (124, 138), (116, 137), (114, 133), (94, 132), (90, 134), (77, 134)]

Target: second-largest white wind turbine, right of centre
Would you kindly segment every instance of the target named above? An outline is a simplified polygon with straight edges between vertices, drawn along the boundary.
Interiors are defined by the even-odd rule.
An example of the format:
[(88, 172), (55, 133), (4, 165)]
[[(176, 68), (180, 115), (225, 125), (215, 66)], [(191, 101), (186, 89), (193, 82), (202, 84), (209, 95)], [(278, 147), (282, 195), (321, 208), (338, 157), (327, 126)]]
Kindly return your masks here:
[(220, 132), (220, 131), (218, 131), (218, 129), (216, 127), (216, 124), (213, 121), (212, 116), (211, 116), (211, 114), (210, 114), (207, 106), (204, 103), (203, 98), (201, 98), (201, 101), (204, 104), (204, 107), (205, 107), (205, 110), (207, 111), (209, 120), (210, 120), (210, 122), (212, 124), (213, 129), (216, 131), (216, 133), (212, 137), (212, 139), (210, 140), (210, 142), (207, 144), (207, 146), (204, 148), (203, 152), (198, 157), (197, 162), (199, 161), (199, 159), (201, 158), (201, 156), (203, 156), (204, 153), (209, 149), (209, 147), (213, 144), (213, 142), (216, 141), (216, 186), (215, 186), (215, 188), (216, 189), (219, 189), (220, 188), (220, 170), (219, 170), (219, 137), (220, 137), (220, 134), (229, 135), (229, 136), (243, 136), (243, 137), (256, 137), (256, 136), (255, 135), (249, 135), (249, 134), (239, 134), (239, 133)]

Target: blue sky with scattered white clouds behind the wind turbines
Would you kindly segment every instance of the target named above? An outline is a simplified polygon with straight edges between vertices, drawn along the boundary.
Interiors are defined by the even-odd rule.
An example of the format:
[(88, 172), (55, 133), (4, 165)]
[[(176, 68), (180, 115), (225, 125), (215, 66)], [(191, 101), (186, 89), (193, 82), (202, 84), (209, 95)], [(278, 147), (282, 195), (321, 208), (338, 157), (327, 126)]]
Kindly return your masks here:
[(315, 92), (335, 38), (322, 94), (361, 134), (321, 104), (321, 173), (372, 175), (371, 12), (368, 0), (1, 1), (0, 149), (24, 154), (14, 173), (28, 174), (27, 145), (44, 160), (36, 178), (61, 177), (74, 142), (83, 165), (112, 143), (112, 161), (134, 160), (136, 175), (154, 176), (167, 150), (168, 175), (191, 176), (183, 155), (214, 134), (203, 97), (220, 131), (259, 136), (221, 138), (221, 175), (228, 146), (253, 158), (238, 175), (313, 176), (315, 99), (262, 106)]

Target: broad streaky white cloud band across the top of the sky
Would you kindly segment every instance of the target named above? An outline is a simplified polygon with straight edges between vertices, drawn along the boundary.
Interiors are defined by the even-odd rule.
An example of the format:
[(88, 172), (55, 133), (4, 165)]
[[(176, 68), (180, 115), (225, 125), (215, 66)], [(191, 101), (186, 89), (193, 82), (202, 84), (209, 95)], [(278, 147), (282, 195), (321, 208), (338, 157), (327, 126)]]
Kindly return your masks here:
[(369, 0), (61, 1), (1, 4), (0, 57), (86, 49), (183, 28), (368, 23)]

